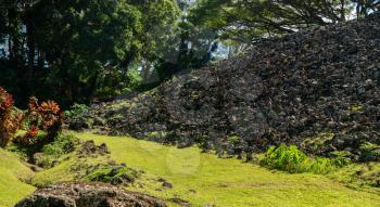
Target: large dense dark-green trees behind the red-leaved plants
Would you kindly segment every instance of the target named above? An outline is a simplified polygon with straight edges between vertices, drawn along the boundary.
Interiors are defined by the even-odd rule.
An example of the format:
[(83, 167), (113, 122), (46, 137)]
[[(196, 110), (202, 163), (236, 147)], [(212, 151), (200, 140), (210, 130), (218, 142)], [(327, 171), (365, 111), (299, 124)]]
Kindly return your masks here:
[(123, 87), (128, 67), (154, 50), (156, 30), (178, 16), (173, 0), (5, 1), (0, 10), (1, 81), (66, 102)]

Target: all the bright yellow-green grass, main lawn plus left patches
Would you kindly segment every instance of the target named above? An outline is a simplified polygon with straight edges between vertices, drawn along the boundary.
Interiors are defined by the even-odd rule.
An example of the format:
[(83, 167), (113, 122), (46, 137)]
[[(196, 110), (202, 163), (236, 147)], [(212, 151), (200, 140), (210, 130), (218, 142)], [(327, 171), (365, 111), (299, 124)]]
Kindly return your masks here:
[[(84, 140), (94, 140), (96, 144), (106, 143), (111, 159), (145, 171), (136, 184), (128, 186), (129, 190), (166, 200), (177, 197), (190, 202), (193, 206), (220, 207), (380, 206), (378, 191), (350, 189), (339, 182), (344, 181), (346, 169), (329, 176), (290, 174), (243, 164), (238, 159), (219, 159), (215, 155), (202, 154), (197, 147), (179, 150), (130, 138), (91, 133), (75, 135)], [(16, 156), (0, 152), (0, 206), (12, 206), (34, 191), (33, 186), (23, 184), (18, 178), (33, 176), (33, 184), (45, 185), (56, 181), (69, 181), (75, 177), (72, 169), (74, 159), (30, 174)], [(97, 161), (104, 160), (102, 157), (86, 160)], [(174, 187), (162, 186), (162, 183), (157, 182), (160, 178), (172, 183)]]

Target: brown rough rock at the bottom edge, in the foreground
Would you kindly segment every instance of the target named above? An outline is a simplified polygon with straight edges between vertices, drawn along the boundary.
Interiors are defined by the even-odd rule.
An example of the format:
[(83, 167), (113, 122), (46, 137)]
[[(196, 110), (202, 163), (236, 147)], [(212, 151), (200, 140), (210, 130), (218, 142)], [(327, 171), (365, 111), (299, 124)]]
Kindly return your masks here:
[(65, 183), (47, 186), (15, 207), (166, 207), (157, 198), (106, 184)]

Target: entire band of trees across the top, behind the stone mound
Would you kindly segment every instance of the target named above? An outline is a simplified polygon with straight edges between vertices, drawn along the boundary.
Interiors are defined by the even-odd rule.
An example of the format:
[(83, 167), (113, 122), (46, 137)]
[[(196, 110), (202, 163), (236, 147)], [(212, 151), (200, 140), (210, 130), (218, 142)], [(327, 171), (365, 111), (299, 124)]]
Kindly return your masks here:
[(139, 80), (155, 86), (199, 68), (220, 46), (233, 54), (262, 38), (365, 17), (379, 7), (380, 0), (0, 0), (0, 86), (16, 100), (89, 103)]

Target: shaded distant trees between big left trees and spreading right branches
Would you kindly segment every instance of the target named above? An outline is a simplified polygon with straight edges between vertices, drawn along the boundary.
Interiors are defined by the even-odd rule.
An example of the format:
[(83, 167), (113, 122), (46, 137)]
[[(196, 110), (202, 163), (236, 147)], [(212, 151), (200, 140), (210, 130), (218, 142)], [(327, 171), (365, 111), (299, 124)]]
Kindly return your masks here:
[[(191, 1), (178, 0), (181, 16), (175, 27), (165, 30), (165, 39), (149, 60), (160, 82), (170, 79), (185, 69), (200, 68), (214, 61), (218, 49), (217, 34), (213, 29), (191, 21)], [(210, 12), (208, 15), (213, 13)]]

